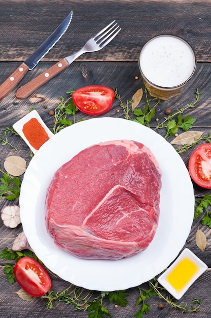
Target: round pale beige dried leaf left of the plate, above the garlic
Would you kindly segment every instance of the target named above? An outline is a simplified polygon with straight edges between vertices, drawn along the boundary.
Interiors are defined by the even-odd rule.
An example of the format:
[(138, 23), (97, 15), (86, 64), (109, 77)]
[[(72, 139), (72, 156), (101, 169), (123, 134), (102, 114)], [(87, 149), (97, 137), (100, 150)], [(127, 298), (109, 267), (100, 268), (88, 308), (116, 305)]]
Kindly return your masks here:
[(26, 171), (26, 161), (20, 156), (11, 155), (6, 158), (4, 167), (9, 174), (18, 177)]

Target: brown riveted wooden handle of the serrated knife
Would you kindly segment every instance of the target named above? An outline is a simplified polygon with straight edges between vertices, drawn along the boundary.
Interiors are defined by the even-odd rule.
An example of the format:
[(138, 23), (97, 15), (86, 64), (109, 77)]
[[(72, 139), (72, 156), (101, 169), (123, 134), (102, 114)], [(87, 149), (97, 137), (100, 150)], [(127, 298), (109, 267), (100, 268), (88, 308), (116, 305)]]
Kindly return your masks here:
[(28, 67), (22, 63), (5, 81), (0, 85), (0, 101), (5, 98), (27, 73)]

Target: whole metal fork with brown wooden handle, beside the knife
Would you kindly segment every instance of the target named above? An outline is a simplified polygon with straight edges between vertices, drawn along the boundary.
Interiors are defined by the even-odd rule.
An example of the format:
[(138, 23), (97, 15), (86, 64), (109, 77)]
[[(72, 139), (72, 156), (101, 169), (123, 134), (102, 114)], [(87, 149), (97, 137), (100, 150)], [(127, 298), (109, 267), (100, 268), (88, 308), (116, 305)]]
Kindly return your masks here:
[(50, 69), (35, 77), (27, 84), (21, 86), (16, 92), (16, 97), (18, 99), (27, 98), (36, 89), (40, 88), (42, 85), (50, 81), (50, 79), (52, 79), (54, 76), (65, 70), (80, 55), (86, 52), (96, 52), (101, 50), (116, 37), (120, 30), (121, 27), (118, 25), (118, 23), (115, 23), (114, 20), (109, 25), (105, 26), (101, 31), (99, 31), (93, 38), (88, 40), (82, 49), (72, 55), (64, 57)]

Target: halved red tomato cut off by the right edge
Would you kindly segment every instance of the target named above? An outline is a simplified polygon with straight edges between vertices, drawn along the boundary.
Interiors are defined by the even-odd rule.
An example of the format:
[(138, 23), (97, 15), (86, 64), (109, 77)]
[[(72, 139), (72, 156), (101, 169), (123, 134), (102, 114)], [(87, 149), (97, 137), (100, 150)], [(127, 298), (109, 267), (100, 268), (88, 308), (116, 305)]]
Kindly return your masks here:
[(188, 170), (194, 182), (211, 189), (211, 144), (202, 144), (192, 152)]

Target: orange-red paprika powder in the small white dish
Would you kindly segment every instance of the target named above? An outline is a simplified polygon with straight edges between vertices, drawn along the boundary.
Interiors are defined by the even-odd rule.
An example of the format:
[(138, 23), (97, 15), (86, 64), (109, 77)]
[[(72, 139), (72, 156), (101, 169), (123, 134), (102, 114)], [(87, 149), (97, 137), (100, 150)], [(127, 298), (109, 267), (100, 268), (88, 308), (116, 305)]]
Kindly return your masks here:
[(29, 121), (27, 121), (23, 125), (22, 132), (31, 146), (36, 150), (40, 149), (40, 147), (48, 139), (50, 139), (37, 118), (31, 118)]

